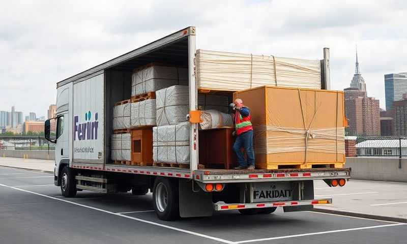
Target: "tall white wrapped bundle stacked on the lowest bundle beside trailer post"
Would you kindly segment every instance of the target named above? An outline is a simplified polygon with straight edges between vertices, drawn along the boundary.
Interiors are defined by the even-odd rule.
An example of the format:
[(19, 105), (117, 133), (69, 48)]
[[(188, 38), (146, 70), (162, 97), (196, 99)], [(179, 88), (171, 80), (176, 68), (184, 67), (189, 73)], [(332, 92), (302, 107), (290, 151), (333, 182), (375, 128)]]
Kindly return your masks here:
[(173, 85), (156, 92), (157, 126), (187, 121), (189, 87)]

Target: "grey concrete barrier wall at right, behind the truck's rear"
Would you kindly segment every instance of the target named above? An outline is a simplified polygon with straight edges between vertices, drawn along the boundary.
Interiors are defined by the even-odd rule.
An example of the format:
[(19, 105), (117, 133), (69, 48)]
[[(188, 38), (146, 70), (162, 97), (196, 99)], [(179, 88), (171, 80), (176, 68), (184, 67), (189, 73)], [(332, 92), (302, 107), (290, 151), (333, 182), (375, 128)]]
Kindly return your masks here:
[(352, 168), (353, 179), (407, 182), (407, 159), (398, 158), (346, 158), (345, 167)]

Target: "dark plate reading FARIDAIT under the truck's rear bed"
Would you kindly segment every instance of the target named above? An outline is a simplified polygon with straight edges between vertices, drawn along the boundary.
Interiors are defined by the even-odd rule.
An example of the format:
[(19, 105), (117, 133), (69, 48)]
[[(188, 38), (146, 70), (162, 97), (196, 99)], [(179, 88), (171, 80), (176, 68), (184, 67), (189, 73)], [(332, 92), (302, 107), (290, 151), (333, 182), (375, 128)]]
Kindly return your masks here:
[(290, 182), (253, 182), (250, 202), (274, 202), (293, 200)]

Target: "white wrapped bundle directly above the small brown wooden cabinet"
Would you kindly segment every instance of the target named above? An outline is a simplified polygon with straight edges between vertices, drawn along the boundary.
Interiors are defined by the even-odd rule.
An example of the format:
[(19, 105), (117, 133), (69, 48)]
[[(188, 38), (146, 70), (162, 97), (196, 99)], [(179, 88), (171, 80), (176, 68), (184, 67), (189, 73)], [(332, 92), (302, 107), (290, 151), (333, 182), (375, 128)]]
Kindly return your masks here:
[(156, 125), (156, 100), (147, 99), (131, 104), (131, 126)]

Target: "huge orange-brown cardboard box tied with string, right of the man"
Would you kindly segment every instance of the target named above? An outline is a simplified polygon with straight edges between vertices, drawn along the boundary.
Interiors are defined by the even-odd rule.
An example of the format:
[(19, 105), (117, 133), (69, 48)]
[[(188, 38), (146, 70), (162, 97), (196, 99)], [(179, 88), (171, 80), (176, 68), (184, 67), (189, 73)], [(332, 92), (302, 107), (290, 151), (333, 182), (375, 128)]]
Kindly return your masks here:
[(343, 92), (261, 86), (236, 98), (250, 109), (256, 168), (343, 167)]

